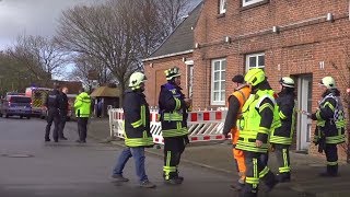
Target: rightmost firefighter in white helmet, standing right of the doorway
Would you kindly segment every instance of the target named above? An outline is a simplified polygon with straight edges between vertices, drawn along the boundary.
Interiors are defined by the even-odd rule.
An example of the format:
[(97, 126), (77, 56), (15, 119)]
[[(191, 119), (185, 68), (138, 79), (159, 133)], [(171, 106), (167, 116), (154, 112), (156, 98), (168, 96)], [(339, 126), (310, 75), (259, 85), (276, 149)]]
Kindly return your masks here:
[(331, 77), (325, 77), (320, 81), (324, 93), (318, 104), (318, 109), (310, 117), (316, 120), (314, 143), (318, 144), (318, 152), (325, 151), (327, 170), (320, 176), (338, 175), (337, 144), (346, 141), (346, 117), (340, 99), (340, 91)]

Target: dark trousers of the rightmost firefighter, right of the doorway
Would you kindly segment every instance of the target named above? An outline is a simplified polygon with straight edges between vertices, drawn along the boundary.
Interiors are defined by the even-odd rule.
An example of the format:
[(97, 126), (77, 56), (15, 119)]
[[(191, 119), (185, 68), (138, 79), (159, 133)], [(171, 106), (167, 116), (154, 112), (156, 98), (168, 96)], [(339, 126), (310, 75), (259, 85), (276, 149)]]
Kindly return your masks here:
[(338, 174), (338, 148), (337, 144), (326, 143), (325, 148), (327, 159), (327, 173), (330, 175)]

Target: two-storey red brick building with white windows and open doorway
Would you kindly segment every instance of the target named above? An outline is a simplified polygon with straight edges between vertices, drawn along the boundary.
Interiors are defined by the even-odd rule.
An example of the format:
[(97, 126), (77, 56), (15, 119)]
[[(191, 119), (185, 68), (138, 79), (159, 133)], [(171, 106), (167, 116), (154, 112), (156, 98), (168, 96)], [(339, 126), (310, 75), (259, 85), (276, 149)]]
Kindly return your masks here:
[[(348, 0), (205, 0), (200, 10), (189, 54), (194, 109), (225, 106), (233, 91), (232, 77), (249, 68), (264, 68), (276, 91), (281, 77), (294, 78), (298, 108), (307, 112), (317, 107), (318, 82), (325, 76), (334, 77), (346, 93), (350, 81), (346, 68), (350, 60)], [(180, 62), (180, 57), (185, 56), (166, 63)], [(159, 69), (160, 60), (145, 62), (152, 78), (150, 63)], [(310, 150), (313, 130), (312, 121), (299, 115), (296, 150)]]

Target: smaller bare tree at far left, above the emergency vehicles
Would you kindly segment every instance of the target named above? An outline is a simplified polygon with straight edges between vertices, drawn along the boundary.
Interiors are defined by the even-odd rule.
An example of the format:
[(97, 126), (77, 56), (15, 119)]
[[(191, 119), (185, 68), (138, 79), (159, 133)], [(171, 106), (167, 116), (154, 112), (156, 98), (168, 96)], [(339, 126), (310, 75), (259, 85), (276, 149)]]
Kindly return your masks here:
[(50, 80), (52, 74), (59, 76), (66, 62), (66, 54), (59, 50), (57, 43), (42, 36), (19, 36), (9, 54), (42, 81)]

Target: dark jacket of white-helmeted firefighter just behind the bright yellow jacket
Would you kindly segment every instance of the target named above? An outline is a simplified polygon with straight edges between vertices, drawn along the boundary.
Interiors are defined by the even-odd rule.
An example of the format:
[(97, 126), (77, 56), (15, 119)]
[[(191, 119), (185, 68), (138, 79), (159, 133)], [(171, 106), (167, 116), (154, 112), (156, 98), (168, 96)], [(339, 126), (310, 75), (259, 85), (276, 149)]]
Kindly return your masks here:
[(271, 143), (292, 144), (293, 132), (295, 129), (295, 101), (293, 92), (280, 92), (276, 99), (279, 111), (281, 127), (272, 130), (270, 135)]

